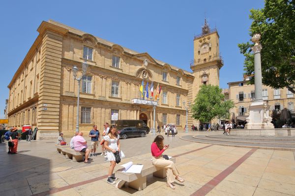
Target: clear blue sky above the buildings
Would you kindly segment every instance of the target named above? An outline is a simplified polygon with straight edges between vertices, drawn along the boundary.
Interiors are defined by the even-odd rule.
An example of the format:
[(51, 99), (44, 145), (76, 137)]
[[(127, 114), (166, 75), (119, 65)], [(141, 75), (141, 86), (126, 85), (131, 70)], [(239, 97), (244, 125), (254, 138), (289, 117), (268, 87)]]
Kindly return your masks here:
[(194, 35), (205, 17), (217, 28), (224, 60), (220, 88), (243, 78), (244, 56), (238, 43), (247, 42), (250, 9), (263, 0), (5, 0), (0, 6), (0, 119), (4, 118), (7, 88), (42, 21), (49, 19), (88, 32), (191, 72)]

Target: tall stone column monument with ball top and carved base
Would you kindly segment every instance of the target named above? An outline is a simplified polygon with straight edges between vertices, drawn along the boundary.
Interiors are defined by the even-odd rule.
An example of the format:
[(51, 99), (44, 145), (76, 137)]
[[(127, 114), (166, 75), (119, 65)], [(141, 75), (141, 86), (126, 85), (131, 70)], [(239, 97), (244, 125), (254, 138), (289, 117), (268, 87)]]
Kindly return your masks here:
[(273, 129), (274, 126), (269, 117), (269, 105), (262, 99), (262, 73), (260, 51), (260, 34), (252, 37), (255, 45), (252, 47), (254, 52), (254, 79), (255, 79), (255, 101), (249, 106), (249, 117), (246, 119), (246, 129)]

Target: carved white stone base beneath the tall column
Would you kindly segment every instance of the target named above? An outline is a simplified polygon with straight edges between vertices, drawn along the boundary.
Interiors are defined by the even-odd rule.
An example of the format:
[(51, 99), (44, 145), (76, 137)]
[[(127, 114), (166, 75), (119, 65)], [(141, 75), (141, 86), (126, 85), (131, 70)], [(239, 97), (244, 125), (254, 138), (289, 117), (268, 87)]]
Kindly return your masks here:
[(271, 120), (269, 105), (263, 100), (253, 101), (249, 106), (249, 117), (246, 118), (245, 129), (273, 129)]

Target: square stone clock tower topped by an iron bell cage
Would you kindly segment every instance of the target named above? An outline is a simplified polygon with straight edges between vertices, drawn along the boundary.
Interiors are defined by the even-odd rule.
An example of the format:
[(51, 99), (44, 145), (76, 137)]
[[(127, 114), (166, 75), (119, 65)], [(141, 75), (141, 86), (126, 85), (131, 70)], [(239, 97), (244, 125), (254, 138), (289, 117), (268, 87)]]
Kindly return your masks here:
[[(202, 26), (202, 33), (194, 37), (194, 62), (190, 68), (195, 76), (193, 81), (193, 100), (201, 85), (218, 85), (219, 70), (223, 61), (219, 53), (219, 35), (217, 29), (210, 29), (207, 20)], [(193, 122), (197, 124), (197, 122)], [(213, 123), (213, 122), (212, 122)]]

